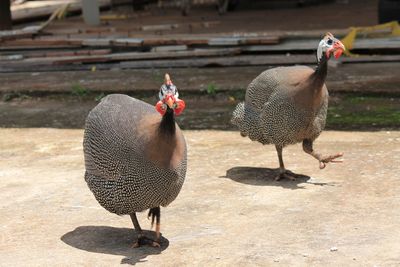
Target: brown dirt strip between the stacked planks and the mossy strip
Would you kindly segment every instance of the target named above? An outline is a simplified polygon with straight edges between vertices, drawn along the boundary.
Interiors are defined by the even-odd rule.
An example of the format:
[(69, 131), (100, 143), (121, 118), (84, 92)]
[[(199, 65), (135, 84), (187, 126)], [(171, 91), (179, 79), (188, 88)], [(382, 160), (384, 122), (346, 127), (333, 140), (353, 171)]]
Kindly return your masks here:
[[(312, 66), (314, 67), (314, 66)], [(52, 73), (1, 73), (2, 93), (71, 93), (76, 86), (93, 92), (157, 91), (166, 72), (183, 94), (216, 90), (244, 90), (268, 66), (231, 68), (176, 68)], [(330, 92), (398, 93), (400, 63), (363, 63), (330, 66), (326, 82)]]

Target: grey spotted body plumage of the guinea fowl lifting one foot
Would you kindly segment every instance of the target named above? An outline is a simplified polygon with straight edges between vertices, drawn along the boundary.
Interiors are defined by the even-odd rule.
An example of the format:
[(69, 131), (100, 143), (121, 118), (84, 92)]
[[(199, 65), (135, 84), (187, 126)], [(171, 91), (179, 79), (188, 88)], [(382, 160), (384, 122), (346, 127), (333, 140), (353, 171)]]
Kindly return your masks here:
[(237, 105), (232, 116), (242, 136), (281, 147), (319, 136), (325, 127), (328, 91), (321, 85), (323, 98), (315, 107), (299, 105), (295, 95), (297, 87), (303, 85), (298, 73), (307, 77), (314, 70), (306, 66), (273, 68), (249, 84), (245, 101)]

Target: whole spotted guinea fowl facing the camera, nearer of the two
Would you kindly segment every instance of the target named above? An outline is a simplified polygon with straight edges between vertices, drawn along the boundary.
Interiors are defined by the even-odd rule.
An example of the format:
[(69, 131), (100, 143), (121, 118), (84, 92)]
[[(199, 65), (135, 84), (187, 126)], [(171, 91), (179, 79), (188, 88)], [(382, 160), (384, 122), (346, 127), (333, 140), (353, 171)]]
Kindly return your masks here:
[[(178, 96), (166, 74), (155, 107), (112, 94), (86, 119), (85, 180), (106, 210), (130, 215), (138, 233), (135, 247), (159, 246), (160, 206), (177, 197), (185, 180), (186, 142), (175, 123), (185, 103)], [(150, 209), (152, 225), (156, 219), (155, 240), (143, 235), (136, 217), (136, 212), (146, 209)]]

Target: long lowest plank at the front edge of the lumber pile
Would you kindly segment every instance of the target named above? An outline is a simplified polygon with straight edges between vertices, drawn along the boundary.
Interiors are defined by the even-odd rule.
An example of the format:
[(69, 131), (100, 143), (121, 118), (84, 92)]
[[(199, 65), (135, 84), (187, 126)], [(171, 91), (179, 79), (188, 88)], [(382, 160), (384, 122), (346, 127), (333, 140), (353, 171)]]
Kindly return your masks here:
[[(115, 57), (113, 59), (116, 59)], [(90, 70), (92, 66), (96, 69), (146, 69), (146, 68), (188, 68), (188, 67), (242, 67), (242, 66), (283, 66), (283, 65), (312, 65), (316, 64), (315, 56), (310, 55), (240, 55), (226, 57), (204, 57), (204, 58), (180, 58), (175, 60), (164, 59), (148, 59), (148, 60), (129, 60), (119, 63), (105, 63), (106, 58), (91, 57), (85, 59), (85, 64), (54, 64), (54, 59), (48, 62), (37, 60), (20, 60), (18, 62), (0, 61), (0, 72), (23, 72), (23, 71), (61, 71), (61, 70)], [(102, 64), (99, 64), (103, 62)], [(371, 63), (371, 62), (400, 62), (400, 55), (385, 55), (385, 56), (365, 56), (357, 58), (343, 57), (339, 62), (344, 64), (354, 63)], [(76, 63), (74, 60), (66, 60), (62, 63)]]

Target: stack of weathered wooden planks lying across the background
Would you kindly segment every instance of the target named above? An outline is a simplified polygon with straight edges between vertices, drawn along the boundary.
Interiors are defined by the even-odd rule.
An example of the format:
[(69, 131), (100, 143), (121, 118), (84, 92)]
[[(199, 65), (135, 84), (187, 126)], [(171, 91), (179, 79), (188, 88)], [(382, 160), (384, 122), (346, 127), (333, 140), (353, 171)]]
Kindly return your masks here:
[[(114, 32), (115, 33), (115, 32)], [(99, 36), (99, 32), (94, 33)], [(281, 39), (280, 36), (171, 35), (144, 38), (116, 34), (40, 36), (3, 40), (0, 72), (182, 68), (314, 64), (318, 39)], [(360, 40), (356, 49), (398, 49), (400, 38)], [(296, 52), (295, 54), (293, 52)], [(396, 55), (341, 59), (342, 63), (400, 61)]]

